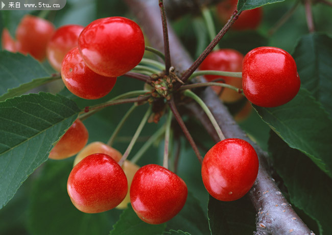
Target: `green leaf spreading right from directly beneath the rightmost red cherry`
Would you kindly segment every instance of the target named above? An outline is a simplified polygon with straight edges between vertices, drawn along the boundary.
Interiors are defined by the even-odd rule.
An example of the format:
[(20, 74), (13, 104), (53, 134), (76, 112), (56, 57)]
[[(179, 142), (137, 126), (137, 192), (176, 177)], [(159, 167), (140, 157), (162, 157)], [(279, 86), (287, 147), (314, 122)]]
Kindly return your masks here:
[(301, 88), (285, 105), (254, 108), (290, 147), (305, 153), (332, 177), (332, 120), (307, 90)]

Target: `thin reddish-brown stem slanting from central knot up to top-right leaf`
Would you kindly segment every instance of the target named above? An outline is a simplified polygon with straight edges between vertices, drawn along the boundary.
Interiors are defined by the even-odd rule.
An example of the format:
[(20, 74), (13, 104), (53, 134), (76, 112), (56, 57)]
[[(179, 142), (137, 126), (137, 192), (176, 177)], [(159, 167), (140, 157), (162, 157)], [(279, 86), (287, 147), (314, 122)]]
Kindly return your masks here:
[[(241, 13), (241, 12), (240, 12)], [(180, 80), (182, 82), (186, 82), (189, 77), (193, 74), (193, 72), (199, 67), (199, 65), (203, 62), (203, 60), (207, 57), (207, 55), (212, 51), (212, 49), (219, 43), (219, 41), (224, 37), (226, 32), (229, 30), (234, 21), (239, 17), (240, 13), (238, 11), (234, 11), (233, 15), (221, 29), (221, 31), (217, 34), (217, 36), (210, 42), (210, 44), (204, 49), (203, 53), (196, 59), (196, 61), (182, 74)]]

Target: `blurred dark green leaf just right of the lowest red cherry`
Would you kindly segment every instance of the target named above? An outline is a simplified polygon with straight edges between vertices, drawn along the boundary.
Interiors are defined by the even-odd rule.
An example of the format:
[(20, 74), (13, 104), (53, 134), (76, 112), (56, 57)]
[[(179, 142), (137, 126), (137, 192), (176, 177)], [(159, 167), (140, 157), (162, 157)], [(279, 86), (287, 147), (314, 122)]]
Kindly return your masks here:
[(167, 222), (167, 229), (187, 231), (195, 235), (209, 234), (206, 213), (199, 206), (200, 201), (188, 192), (187, 200), (173, 219)]

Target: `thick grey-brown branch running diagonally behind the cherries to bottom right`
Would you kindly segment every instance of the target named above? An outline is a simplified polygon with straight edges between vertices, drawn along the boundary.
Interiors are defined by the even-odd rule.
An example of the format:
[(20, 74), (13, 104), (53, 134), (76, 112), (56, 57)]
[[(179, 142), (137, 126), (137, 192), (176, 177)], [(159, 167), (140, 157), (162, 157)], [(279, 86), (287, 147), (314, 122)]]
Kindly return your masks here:
[[(156, 1), (126, 0), (126, 2), (144, 27), (151, 44), (162, 50), (162, 27), (160, 20), (158, 20), (160, 16), (158, 15), (159, 7)], [(183, 46), (171, 28), (169, 28), (169, 39), (170, 45), (172, 45), (171, 57), (173, 66), (182, 71), (186, 70), (192, 65), (192, 59), (184, 51)], [(202, 78), (200, 80), (201, 82), (205, 82)], [(266, 153), (248, 139), (243, 130), (235, 123), (227, 108), (210, 88), (205, 89), (200, 94), (200, 97), (216, 117), (218, 124), (227, 138), (244, 139), (250, 142), (257, 151), (259, 156), (259, 172), (256, 182), (248, 194), (257, 212), (257, 230), (255, 233), (288, 234), (292, 232), (291, 234), (310, 234), (311, 230), (296, 215), (289, 202), (280, 193), (274, 180), (268, 174), (264, 164)], [(202, 122), (209, 135), (215, 141), (218, 141), (215, 129), (210, 124), (203, 110), (195, 102), (191, 102), (187, 105), (187, 108)]]

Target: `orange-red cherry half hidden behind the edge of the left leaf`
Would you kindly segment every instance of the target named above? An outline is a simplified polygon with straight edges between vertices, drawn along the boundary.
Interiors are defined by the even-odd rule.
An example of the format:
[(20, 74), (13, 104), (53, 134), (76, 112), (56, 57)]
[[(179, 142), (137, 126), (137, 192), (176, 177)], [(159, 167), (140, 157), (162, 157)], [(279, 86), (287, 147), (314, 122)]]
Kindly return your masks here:
[(50, 159), (65, 159), (78, 153), (88, 141), (88, 130), (80, 119), (76, 119), (72, 126), (62, 136), (51, 150)]

